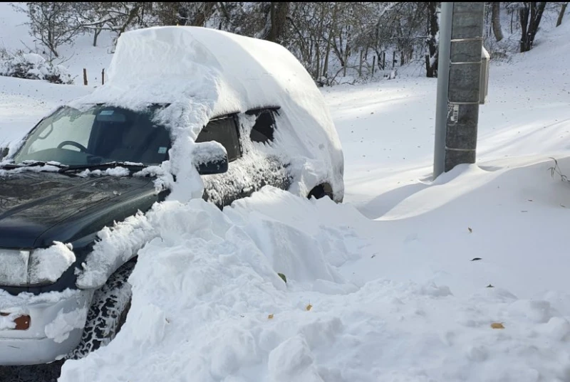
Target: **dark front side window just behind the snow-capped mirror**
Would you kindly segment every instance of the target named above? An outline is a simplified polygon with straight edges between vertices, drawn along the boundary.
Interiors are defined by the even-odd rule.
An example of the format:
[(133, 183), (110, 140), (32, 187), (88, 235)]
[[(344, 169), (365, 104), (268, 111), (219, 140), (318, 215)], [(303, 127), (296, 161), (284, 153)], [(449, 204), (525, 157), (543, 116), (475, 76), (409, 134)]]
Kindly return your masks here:
[(209, 141), (219, 142), (226, 148), (228, 161), (234, 161), (242, 156), (234, 117), (223, 117), (208, 122), (198, 134), (196, 142)]

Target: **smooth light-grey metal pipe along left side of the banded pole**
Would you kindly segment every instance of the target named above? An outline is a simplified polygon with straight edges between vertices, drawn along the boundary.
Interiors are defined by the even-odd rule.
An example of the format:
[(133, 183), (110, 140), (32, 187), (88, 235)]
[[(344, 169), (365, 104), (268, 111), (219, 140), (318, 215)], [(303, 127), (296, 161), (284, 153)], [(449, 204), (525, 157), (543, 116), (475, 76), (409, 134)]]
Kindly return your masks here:
[(440, 44), (437, 53), (437, 105), (435, 109), (435, 150), (433, 178), (445, 169), (445, 135), (447, 134), (447, 89), (450, 83), (451, 23), (454, 3), (442, 3)]

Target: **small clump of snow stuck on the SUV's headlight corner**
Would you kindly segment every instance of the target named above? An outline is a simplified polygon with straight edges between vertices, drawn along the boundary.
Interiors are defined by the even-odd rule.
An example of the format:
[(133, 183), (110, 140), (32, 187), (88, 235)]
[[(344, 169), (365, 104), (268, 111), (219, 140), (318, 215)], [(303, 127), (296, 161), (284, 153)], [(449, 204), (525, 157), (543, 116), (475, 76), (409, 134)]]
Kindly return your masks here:
[(51, 247), (33, 251), (30, 264), (32, 283), (56, 282), (76, 262), (73, 245), (56, 242)]

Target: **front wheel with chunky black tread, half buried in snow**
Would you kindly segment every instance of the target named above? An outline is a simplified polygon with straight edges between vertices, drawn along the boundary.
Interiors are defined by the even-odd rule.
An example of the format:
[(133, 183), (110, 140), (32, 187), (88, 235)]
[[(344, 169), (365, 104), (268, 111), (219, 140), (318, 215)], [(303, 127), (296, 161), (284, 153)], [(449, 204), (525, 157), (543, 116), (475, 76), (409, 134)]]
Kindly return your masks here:
[(108, 345), (118, 334), (130, 309), (132, 292), (127, 280), (134, 267), (134, 260), (127, 262), (109, 277), (103, 287), (95, 291), (81, 342), (68, 354), (67, 359), (81, 359), (91, 351)]

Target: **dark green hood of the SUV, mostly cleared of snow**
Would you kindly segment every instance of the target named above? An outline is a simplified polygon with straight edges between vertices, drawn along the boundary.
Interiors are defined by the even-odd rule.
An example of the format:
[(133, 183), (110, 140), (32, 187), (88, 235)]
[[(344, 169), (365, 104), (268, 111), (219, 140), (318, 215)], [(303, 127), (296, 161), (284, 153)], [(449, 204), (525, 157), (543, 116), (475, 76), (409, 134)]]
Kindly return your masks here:
[(152, 186), (148, 178), (83, 178), (48, 172), (0, 177), (0, 248), (38, 248), (51, 245), (53, 240), (71, 240), (81, 227), (62, 229), (51, 236), (46, 233), (73, 221), (83, 221), (92, 230), (103, 228), (124, 218), (124, 213), (107, 213), (95, 222), (88, 216), (109, 208), (113, 211), (113, 206), (119, 207), (117, 203), (141, 192), (152, 193), (148, 184)]

